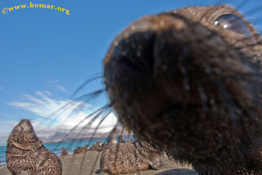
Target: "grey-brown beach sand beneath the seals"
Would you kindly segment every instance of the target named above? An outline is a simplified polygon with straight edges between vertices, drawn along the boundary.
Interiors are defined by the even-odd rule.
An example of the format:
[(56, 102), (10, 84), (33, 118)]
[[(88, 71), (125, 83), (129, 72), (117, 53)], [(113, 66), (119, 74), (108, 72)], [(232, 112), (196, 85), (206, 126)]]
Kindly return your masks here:
[[(88, 151), (85, 154), (69, 154), (59, 156), (63, 165), (63, 175), (97, 175), (100, 172), (99, 159), (101, 152)], [(149, 169), (125, 175), (198, 175), (192, 167), (188, 165), (169, 162), (167, 155), (162, 157), (163, 163), (171, 168)], [(0, 165), (0, 175), (12, 175), (6, 164)]]

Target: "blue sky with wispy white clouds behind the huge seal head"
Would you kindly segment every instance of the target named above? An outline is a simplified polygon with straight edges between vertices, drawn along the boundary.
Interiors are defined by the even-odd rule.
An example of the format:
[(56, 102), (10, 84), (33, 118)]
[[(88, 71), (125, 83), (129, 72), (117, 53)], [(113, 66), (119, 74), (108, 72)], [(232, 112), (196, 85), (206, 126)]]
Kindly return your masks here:
[[(107, 96), (102, 93), (84, 102), (87, 107), (69, 118), (68, 114), (77, 105), (68, 108), (53, 122), (47, 120), (56, 118), (50, 114), (70, 100), (104, 88), (102, 78), (98, 78), (72, 96), (88, 78), (102, 75), (102, 61), (110, 43), (132, 21), (184, 6), (218, 3), (238, 6), (242, 1), (13, 0), (1, 1), (0, 9), (24, 4), (30, 7), (30, 2), (61, 7), (69, 10), (69, 15), (65, 10), (39, 7), (20, 7), (8, 10), (6, 14), (0, 13), (0, 145), (6, 144), (11, 130), (21, 118), (35, 121), (33, 126), (38, 136), (49, 136), (58, 130), (68, 132), (86, 115), (107, 104)], [(261, 6), (262, 3), (257, 2), (250, 0), (240, 11), (245, 14)], [(246, 16), (260, 27), (259, 30), (261, 12)], [(95, 120), (92, 127), (100, 120)], [(110, 114), (99, 132), (109, 131), (115, 123), (116, 117)]]

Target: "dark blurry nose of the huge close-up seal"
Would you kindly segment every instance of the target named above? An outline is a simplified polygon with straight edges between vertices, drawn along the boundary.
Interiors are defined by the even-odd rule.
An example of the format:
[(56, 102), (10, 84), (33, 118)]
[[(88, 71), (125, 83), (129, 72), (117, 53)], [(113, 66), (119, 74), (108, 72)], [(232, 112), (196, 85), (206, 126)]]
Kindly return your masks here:
[(113, 88), (117, 82), (125, 92), (142, 93), (167, 67), (180, 76), (177, 62), (185, 61), (189, 52), (180, 36), (186, 26), (182, 17), (169, 14), (146, 16), (129, 25), (115, 38), (104, 60), (106, 87)]

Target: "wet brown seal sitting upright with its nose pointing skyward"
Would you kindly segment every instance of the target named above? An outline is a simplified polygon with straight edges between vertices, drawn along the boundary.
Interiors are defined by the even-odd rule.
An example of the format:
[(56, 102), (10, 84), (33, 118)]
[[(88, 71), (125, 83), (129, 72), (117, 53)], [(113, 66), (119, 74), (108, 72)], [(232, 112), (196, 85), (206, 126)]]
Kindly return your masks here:
[(59, 157), (43, 146), (28, 119), (21, 120), (10, 133), (6, 162), (8, 169), (15, 175), (62, 174)]

